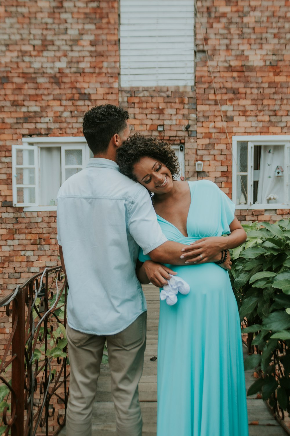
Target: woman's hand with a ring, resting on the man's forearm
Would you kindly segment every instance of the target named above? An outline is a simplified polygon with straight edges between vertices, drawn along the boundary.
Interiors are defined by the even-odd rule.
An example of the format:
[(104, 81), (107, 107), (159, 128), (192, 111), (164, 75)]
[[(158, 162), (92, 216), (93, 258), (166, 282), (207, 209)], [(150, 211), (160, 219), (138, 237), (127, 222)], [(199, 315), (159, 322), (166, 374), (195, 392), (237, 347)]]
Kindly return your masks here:
[[(220, 260), (220, 253), (224, 250), (224, 245), (223, 236), (209, 236), (184, 247), (183, 256), (189, 263), (217, 262)], [(187, 261), (187, 258), (190, 260)]]

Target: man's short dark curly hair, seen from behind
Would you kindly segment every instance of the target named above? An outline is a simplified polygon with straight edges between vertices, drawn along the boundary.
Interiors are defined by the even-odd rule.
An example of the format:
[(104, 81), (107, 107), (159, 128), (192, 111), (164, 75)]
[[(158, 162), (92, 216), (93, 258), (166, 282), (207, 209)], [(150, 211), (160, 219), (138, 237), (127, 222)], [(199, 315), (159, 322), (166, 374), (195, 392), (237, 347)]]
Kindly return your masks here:
[(83, 136), (93, 154), (105, 153), (111, 138), (127, 126), (127, 110), (114, 105), (94, 106), (83, 116)]

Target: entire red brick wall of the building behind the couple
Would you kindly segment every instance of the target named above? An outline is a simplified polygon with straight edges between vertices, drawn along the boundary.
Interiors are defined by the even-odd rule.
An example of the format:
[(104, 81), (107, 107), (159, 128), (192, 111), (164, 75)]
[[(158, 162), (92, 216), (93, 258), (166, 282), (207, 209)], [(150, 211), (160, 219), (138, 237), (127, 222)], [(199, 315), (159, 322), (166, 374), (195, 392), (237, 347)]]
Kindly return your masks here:
[[(197, 5), (230, 140), (288, 133), (290, 2)], [(0, 32), (1, 292), (58, 263), (55, 212), (12, 207), (11, 144), (27, 135), (81, 135), (91, 106), (119, 102), (135, 130), (184, 143), (186, 177), (196, 180), (195, 162), (203, 160), (201, 176), (231, 196), (231, 150), (204, 57), (192, 87), (120, 89), (117, 1), (7, 0)], [(200, 59), (198, 19), (196, 39)], [(289, 217), (289, 210), (237, 213), (242, 221)]]

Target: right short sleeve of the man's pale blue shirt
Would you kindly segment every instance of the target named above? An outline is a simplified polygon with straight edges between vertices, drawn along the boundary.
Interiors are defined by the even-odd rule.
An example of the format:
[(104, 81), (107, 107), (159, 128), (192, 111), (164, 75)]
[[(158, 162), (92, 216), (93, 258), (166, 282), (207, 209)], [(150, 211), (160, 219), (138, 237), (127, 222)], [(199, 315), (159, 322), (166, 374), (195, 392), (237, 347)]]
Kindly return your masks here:
[(138, 191), (130, 205), (127, 229), (144, 255), (167, 241), (158, 224), (150, 195), (145, 188)]

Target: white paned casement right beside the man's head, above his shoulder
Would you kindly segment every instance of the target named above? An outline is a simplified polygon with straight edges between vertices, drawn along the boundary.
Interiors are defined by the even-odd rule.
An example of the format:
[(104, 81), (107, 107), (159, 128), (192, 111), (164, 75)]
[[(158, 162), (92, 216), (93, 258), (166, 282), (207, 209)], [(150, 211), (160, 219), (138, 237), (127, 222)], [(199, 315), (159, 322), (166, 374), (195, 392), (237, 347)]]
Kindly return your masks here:
[(61, 147), (61, 183), (87, 165), (86, 145), (69, 144)]

